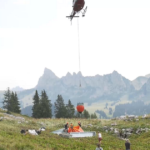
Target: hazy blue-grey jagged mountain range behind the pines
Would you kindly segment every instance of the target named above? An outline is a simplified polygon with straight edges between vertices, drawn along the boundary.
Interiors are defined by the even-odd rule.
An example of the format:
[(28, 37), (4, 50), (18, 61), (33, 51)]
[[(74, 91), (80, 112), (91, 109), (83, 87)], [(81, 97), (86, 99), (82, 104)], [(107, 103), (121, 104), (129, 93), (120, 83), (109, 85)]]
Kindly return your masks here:
[[(81, 84), (81, 85), (80, 85)], [(126, 96), (127, 100), (148, 100), (150, 98), (150, 74), (137, 77), (130, 81), (117, 71), (106, 75), (83, 76), (81, 72), (67, 73), (61, 78), (57, 77), (50, 69), (45, 68), (37, 85), (28, 90), (17, 88), (21, 108), (33, 105), (32, 97), (35, 90), (39, 94), (45, 90), (52, 103), (57, 95), (63, 96), (65, 103), (70, 99), (73, 104), (78, 102), (100, 103), (106, 100), (119, 101)], [(14, 91), (14, 89), (13, 89)], [(3, 91), (0, 91), (0, 101), (3, 99)]]

